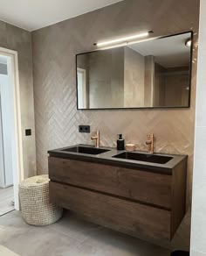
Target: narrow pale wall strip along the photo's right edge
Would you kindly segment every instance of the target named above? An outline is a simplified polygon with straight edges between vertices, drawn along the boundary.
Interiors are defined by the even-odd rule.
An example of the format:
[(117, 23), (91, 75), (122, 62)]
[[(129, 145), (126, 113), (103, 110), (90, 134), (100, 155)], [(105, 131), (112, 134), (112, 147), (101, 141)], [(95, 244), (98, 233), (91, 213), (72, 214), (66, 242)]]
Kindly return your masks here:
[(201, 0), (196, 89), (196, 139), (192, 195), (191, 255), (206, 255), (206, 1)]

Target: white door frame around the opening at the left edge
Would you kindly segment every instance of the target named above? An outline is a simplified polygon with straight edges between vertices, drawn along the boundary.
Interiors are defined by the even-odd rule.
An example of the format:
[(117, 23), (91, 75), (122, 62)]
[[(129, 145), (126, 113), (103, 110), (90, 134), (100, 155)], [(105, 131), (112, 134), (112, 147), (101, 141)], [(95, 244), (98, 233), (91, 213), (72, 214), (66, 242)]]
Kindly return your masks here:
[(10, 57), (10, 67), (12, 72), (13, 86), (13, 116), (14, 133), (11, 135), (13, 140), (12, 164), (13, 164), (13, 184), (14, 184), (14, 207), (19, 210), (18, 184), (24, 180), (24, 161), (23, 161), (23, 138), (20, 106), (20, 88), (18, 74), (18, 56), (17, 51), (0, 47), (0, 55)]

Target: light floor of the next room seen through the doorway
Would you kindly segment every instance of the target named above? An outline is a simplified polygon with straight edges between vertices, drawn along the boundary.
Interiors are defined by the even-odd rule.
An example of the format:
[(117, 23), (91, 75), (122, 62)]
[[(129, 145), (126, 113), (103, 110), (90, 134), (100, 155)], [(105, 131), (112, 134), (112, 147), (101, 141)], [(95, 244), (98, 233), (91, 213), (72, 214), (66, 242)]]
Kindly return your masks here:
[(14, 210), (14, 206), (12, 205), (13, 199), (13, 187), (0, 188), (0, 216)]

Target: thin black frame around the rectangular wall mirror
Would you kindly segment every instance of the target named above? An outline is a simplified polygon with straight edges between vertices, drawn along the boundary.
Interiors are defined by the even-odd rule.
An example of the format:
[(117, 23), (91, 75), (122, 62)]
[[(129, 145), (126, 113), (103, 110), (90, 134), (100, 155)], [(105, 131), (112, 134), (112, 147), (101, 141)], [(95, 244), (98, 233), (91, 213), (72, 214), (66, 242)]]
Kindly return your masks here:
[[(185, 33), (190, 33), (191, 34), (191, 47), (190, 47), (190, 63), (189, 63), (189, 103), (188, 106), (182, 106), (182, 107), (172, 107), (172, 106), (162, 106), (162, 107), (133, 107), (133, 108), (99, 108), (99, 109), (80, 109), (79, 108), (79, 103), (78, 103), (78, 74), (77, 74), (77, 62), (78, 62), (78, 56), (82, 55), (82, 54), (86, 54), (86, 53), (94, 53), (94, 52), (100, 52), (100, 51), (106, 51), (106, 50), (93, 50), (90, 52), (86, 52), (86, 53), (78, 53), (76, 54), (76, 106), (77, 106), (77, 110), (161, 110), (161, 109), (189, 109), (190, 108), (190, 103), (191, 103), (191, 83), (192, 83), (192, 57), (193, 57), (193, 49), (194, 49), (194, 32), (193, 31), (186, 31), (186, 32), (179, 32), (179, 33), (175, 33), (175, 34), (169, 34), (169, 35), (165, 35), (165, 36), (159, 36), (159, 37), (154, 37), (154, 38), (148, 38), (145, 40), (141, 40), (140, 43), (144, 42), (144, 41), (153, 41), (153, 40), (158, 40), (158, 39), (164, 39), (164, 38), (169, 38), (169, 37), (174, 37), (174, 36), (178, 36), (178, 35), (182, 35)], [(135, 42), (136, 44), (137, 42)], [(132, 45), (132, 44), (131, 44)], [(120, 46), (120, 47), (124, 47), (124, 46)], [(117, 47), (118, 48), (118, 47)], [(108, 48), (109, 49), (109, 48)]]

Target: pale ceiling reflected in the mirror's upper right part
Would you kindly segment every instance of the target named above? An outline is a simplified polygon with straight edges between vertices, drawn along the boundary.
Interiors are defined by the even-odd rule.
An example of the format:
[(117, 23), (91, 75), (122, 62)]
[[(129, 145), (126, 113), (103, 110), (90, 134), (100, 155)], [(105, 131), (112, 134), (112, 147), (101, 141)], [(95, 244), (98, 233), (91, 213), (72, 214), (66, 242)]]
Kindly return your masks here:
[(143, 56), (154, 55), (155, 62), (164, 68), (188, 66), (190, 62), (190, 47), (185, 46), (191, 33), (183, 33), (173, 37), (149, 40), (131, 46), (134, 51)]

